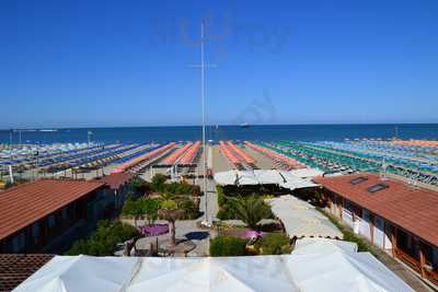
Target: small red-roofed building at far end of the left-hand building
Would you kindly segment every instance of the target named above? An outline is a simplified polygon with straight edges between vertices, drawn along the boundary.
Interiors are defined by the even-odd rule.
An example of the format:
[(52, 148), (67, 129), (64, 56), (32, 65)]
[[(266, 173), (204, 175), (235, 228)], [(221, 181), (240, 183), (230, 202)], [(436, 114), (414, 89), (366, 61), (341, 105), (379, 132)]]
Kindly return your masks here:
[(135, 175), (128, 172), (114, 173), (105, 175), (97, 182), (105, 183), (105, 195), (107, 200), (107, 211), (120, 210), (126, 196), (131, 190), (129, 183), (132, 182)]

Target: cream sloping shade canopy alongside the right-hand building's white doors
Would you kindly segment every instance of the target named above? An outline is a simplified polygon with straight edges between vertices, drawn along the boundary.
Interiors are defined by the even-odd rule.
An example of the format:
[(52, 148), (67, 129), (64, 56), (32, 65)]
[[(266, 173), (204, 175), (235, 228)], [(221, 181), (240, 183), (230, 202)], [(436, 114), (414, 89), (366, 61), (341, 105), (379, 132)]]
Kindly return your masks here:
[(266, 199), (289, 237), (343, 238), (342, 232), (310, 203), (287, 195)]

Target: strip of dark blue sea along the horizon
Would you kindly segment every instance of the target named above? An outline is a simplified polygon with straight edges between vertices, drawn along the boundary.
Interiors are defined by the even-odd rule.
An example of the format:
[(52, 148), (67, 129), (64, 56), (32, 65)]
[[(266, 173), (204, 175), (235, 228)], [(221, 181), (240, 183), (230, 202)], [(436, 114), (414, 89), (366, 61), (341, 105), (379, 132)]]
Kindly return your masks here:
[[(206, 138), (252, 141), (342, 141), (345, 139), (428, 139), (438, 140), (438, 124), (382, 125), (253, 125), (208, 126)], [(201, 139), (200, 126), (114, 127), (0, 130), (1, 143), (57, 142), (168, 142)]]

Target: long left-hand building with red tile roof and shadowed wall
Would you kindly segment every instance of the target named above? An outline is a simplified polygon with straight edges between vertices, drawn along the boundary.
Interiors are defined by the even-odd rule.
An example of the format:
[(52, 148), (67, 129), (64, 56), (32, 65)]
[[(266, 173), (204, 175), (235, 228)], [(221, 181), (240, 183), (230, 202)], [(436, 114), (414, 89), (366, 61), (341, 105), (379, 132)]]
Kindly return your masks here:
[(105, 183), (39, 179), (0, 192), (0, 253), (59, 253), (102, 215)]

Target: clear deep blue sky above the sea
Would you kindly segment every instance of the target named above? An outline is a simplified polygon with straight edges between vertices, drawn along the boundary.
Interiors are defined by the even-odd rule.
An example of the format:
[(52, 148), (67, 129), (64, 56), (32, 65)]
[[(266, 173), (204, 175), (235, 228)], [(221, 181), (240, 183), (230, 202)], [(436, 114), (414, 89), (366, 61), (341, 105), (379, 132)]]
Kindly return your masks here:
[(438, 1), (0, 3), (0, 128), (438, 122)]

